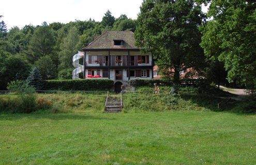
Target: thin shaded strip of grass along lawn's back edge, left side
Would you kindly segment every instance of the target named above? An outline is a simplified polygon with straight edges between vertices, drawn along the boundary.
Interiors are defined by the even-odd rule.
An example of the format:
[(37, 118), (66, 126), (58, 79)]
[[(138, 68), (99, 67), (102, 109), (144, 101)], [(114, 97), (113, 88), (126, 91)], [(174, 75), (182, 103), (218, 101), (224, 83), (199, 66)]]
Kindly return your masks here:
[(21, 120), (21, 119), (50, 119), (50, 120), (116, 120), (112, 116), (102, 117), (102, 114), (1, 114), (0, 120)]

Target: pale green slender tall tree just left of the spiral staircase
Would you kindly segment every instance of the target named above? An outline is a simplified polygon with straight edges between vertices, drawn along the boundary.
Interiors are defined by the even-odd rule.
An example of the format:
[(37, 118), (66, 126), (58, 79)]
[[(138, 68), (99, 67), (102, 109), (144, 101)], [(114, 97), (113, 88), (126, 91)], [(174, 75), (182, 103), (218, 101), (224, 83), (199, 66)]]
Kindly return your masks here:
[[(77, 53), (78, 47), (77, 44), (79, 42), (78, 30), (76, 27), (71, 27), (68, 31), (67, 37), (64, 38), (61, 44), (61, 52), (59, 52), (59, 62), (58, 70), (66, 70), (73, 69), (72, 65), (72, 57)], [(67, 73), (69, 74), (69, 73)], [(63, 76), (62, 76), (63, 77)], [(72, 78), (69, 76), (69, 79)]]

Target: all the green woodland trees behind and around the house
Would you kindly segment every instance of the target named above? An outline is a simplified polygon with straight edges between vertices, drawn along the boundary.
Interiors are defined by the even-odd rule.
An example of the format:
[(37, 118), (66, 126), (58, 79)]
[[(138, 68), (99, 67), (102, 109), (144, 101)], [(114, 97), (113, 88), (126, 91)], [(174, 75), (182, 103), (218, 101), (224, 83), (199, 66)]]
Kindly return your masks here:
[[(209, 4), (203, 13), (201, 5)], [(154, 53), (167, 78), (193, 67), (220, 85), (256, 89), (254, 1), (143, 1), (137, 20), (107, 11), (89, 19), (11, 27), (0, 22), (0, 87), (26, 79), (37, 68), (43, 79), (71, 79), (72, 56), (106, 30), (131, 30), (142, 51)], [(174, 73), (170, 73), (170, 68)]]

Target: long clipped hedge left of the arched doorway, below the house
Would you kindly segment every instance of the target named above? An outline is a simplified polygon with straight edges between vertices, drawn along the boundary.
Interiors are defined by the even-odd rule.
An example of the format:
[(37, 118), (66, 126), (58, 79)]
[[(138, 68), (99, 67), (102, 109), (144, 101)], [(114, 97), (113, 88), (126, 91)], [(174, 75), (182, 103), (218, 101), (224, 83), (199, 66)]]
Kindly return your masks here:
[(114, 81), (111, 79), (46, 80), (42, 90), (100, 91), (109, 90), (113, 85)]

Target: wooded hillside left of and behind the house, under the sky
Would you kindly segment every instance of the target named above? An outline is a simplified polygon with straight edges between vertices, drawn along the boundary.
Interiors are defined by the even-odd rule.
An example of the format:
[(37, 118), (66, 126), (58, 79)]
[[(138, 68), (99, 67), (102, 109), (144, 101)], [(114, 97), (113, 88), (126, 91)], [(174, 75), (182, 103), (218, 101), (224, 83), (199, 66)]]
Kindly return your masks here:
[(101, 22), (95, 20), (54, 22), (7, 29), (0, 16), (0, 88), (7, 82), (26, 79), (36, 67), (43, 79), (71, 79), (72, 56), (106, 30), (135, 31), (137, 20), (125, 14), (114, 18), (108, 10)]

